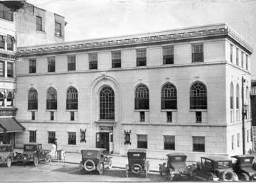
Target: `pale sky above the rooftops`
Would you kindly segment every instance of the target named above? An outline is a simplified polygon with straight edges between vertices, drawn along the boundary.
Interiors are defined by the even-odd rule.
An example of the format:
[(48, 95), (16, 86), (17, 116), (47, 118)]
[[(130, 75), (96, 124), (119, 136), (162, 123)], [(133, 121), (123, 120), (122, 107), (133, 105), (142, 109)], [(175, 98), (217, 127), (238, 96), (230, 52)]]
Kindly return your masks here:
[[(256, 52), (256, 0), (27, 0), (65, 16), (65, 40), (228, 23)], [(252, 54), (256, 79), (256, 53)]]

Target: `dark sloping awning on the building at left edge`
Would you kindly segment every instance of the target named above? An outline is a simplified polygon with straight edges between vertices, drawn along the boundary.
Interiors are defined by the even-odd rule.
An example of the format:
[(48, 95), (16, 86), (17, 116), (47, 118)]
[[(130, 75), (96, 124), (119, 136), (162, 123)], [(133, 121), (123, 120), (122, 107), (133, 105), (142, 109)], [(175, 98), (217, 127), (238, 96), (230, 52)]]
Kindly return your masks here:
[(25, 128), (15, 118), (0, 118), (0, 133), (25, 131)]

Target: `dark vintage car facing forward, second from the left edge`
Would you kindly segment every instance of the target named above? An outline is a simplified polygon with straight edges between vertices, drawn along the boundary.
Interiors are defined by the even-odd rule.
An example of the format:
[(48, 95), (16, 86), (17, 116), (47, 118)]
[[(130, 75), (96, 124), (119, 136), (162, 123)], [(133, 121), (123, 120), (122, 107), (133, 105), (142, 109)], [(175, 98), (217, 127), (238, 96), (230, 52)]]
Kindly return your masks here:
[(23, 153), (16, 160), (23, 163), (33, 162), (37, 166), (41, 160), (48, 162), (48, 156), (42, 150), (41, 143), (26, 143), (23, 145)]

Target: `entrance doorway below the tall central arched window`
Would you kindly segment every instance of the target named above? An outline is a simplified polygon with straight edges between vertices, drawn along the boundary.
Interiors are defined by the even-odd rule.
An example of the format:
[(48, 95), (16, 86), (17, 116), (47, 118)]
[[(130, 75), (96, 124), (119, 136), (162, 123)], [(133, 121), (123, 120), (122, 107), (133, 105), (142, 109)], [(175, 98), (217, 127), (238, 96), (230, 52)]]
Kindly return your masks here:
[(113, 153), (113, 133), (98, 132), (96, 133), (96, 148), (105, 148), (110, 154)]

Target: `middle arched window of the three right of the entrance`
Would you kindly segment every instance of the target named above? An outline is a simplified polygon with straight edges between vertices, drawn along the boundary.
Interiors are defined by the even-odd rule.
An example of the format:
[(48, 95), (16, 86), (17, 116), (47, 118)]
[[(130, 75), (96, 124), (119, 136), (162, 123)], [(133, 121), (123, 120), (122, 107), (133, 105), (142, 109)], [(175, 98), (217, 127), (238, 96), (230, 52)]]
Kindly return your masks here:
[(161, 109), (177, 109), (177, 91), (174, 84), (164, 84), (161, 90)]

